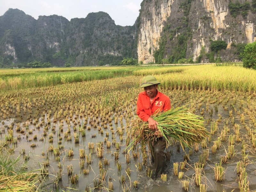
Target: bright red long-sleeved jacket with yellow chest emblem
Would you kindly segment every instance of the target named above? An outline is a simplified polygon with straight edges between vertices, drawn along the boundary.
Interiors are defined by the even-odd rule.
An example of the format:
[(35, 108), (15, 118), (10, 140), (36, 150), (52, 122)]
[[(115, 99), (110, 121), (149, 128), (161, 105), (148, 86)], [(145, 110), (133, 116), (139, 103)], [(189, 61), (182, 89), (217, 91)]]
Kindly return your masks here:
[(157, 90), (156, 97), (150, 104), (150, 98), (146, 92), (140, 92), (137, 100), (137, 115), (143, 120), (148, 121), (148, 118), (155, 111), (166, 111), (171, 109), (170, 98)]

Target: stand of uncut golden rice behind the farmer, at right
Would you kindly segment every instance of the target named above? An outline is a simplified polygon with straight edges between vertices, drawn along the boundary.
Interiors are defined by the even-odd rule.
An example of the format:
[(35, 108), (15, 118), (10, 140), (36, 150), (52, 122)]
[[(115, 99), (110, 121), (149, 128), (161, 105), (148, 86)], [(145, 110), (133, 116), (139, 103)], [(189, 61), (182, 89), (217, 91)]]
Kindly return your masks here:
[(160, 86), (187, 90), (256, 91), (256, 71), (239, 66), (188, 66), (182, 73), (156, 75)]

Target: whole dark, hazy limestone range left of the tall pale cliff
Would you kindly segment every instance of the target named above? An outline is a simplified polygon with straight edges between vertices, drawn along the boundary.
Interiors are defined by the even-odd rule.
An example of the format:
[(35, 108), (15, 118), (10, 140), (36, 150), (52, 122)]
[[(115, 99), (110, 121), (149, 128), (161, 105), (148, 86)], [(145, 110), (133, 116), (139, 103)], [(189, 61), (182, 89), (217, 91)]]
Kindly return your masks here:
[(0, 16), (0, 62), (5, 66), (33, 60), (57, 66), (119, 63), (135, 57), (135, 26), (117, 26), (105, 12), (72, 19), (58, 15), (38, 20), (18, 9)]

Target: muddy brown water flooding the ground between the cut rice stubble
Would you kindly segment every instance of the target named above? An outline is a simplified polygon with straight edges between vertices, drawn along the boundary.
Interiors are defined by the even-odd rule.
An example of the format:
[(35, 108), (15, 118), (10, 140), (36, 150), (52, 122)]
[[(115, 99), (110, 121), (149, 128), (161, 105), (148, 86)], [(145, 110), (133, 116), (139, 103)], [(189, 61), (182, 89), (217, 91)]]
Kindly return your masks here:
[[(184, 101), (180, 101), (180, 104), (185, 104), (186, 102), (188, 102), (189, 100), (184, 100)], [(217, 120), (219, 118), (218, 114), (220, 114), (222, 116), (222, 122), (219, 123), (219, 130), (217, 131), (217, 133), (215, 135), (212, 136), (212, 141), (216, 140), (218, 137), (218, 133), (220, 133), (221, 129), (224, 126), (224, 120), (225, 119), (229, 119), (229, 114), (228, 111), (232, 110), (230, 107), (228, 107), (228, 110), (225, 111), (222, 107), (222, 103), (220, 103), (219, 105), (217, 105), (218, 108), (218, 112), (214, 111), (214, 108), (217, 104), (210, 104), (209, 108), (213, 109), (213, 115), (212, 115), (212, 119), (213, 120)], [(229, 103), (227, 104), (227, 106), (229, 106)], [(200, 113), (200, 110), (202, 108), (206, 108), (205, 104), (202, 105), (202, 107), (200, 109), (197, 109), (197, 114)], [(238, 105), (235, 105), (235, 108), (237, 108), (237, 110), (239, 110)], [(233, 114), (235, 114), (233, 112)], [(209, 113), (205, 112), (205, 119), (210, 119)], [(74, 116), (75, 117), (75, 116)], [(44, 121), (47, 122), (47, 117), (46, 115), (39, 118), (39, 122), (40, 123), (44, 118)], [(79, 119), (80, 122), (85, 122), (84, 118), (80, 118)], [(16, 123), (21, 121), (20, 119), (8, 119), (8, 120), (4, 120), (4, 125), (10, 125), (11, 123), (14, 123), (14, 127), (13, 130), (15, 130), (16, 128)], [(123, 137), (123, 141), (120, 141), (120, 137), (118, 136), (118, 134), (115, 134), (115, 139), (116, 142), (120, 142), (120, 149), (116, 149), (115, 145), (111, 144), (111, 148), (108, 149), (106, 147), (106, 143), (104, 142), (104, 138), (106, 138), (106, 132), (109, 132), (109, 136), (108, 141), (112, 142), (113, 139), (111, 137), (111, 131), (109, 130), (109, 123), (108, 123), (108, 128), (104, 129), (102, 127), (102, 130), (104, 130), (103, 134), (101, 134), (98, 131), (98, 128), (93, 128), (90, 124), (90, 117), (88, 118), (88, 123), (86, 125), (91, 127), (91, 130), (86, 129), (86, 136), (82, 137), (82, 135), (79, 135), (79, 143), (74, 143), (74, 127), (76, 127), (76, 125), (72, 124), (71, 121), (71, 133), (69, 133), (69, 135), (72, 136), (72, 140), (71, 141), (67, 141), (64, 137), (63, 134), (61, 134), (62, 140), (61, 140), (61, 144), (63, 145), (64, 148), (62, 150), (60, 150), (60, 161), (58, 161), (56, 159), (56, 156), (53, 154), (52, 151), (49, 152), (49, 166), (48, 166), (48, 171), (49, 171), (49, 175), (46, 177), (46, 186), (44, 187), (45, 190), (53, 190), (53, 191), (59, 191), (60, 189), (67, 191), (84, 191), (84, 189), (86, 188), (86, 186), (89, 186), (91, 188), (94, 188), (94, 184), (93, 181), (98, 180), (100, 178), (99, 175), (99, 162), (103, 162), (102, 158), (98, 158), (97, 157), (97, 152), (96, 152), (96, 147), (97, 147), (97, 143), (98, 142), (103, 142), (103, 148), (104, 148), (104, 155), (103, 158), (106, 158), (109, 160), (109, 165), (103, 165), (103, 168), (107, 170), (107, 174), (106, 174), (106, 181), (102, 184), (101, 189), (95, 189), (97, 190), (107, 190), (108, 188), (108, 181), (112, 181), (113, 182), (113, 187), (114, 187), (114, 191), (123, 191), (123, 190), (132, 190), (132, 191), (175, 191), (175, 192), (179, 192), (179, 191), (183, 191), (182, 190), (182, 185), (181, 185), (181, 180), (187, 179), (189, 180), (190, 184), (189, 184), (189, 191), (200, 191), (199, 187), (195, 186), (195, 181), (194, 181), (194, 177), (195, 177), (195, 171), (194, 171), (194, 163), (196, 163), (198, 161), (198, 156), (200, 154), (202, 154), (202, 151), (206, 150), (207, 148), (210, 149), (210, 153), (209, 153), (209, 160), (207, 161), (206, 166), (204, 167), (204, 173), (203, 173), (203, 180), (202, 182), (207, 184), (207, 191), (239, 191), (238, 189), (238, 180), (237, 180), (237, 175), (236, 175), (236, 162), (238, 162), (239, 160), (241, 160), (241, 143), (242, 142), (235, 142), (235, 153), (236, 155), (234, 156), (233, 159), (228, 160), (228, 163), (226, 164), (222, 164), (222, 166), (226, 169), (225, 172), (225, 179), (222, 182), (216, 182), (215, 178), (214, 178), (214, 170), (213, 167), (215, 165), (215, 163), (219, 163), (220, 162), (220, 156), (225, 156), (226, 151), (228, 150), (228, 137), (227, 140), (224, 142), (221, 142), (221, 147), (219, 150), (217, 150), (216, 154), (212, 154), (211, 153), (211, 146), (213, 144), (213, 142), (207, 143), (207, 148), (202, 148), (201, 145), (199, 147), (199, 151), (195, 152), (193, 151), (193, 155), (189, 156), (190, 160), (188, 161), (188, 164), (186, 165), (186, 169), (182, 170), (184, 172), (183, 178), (181, 180), (178, 179), (178, 177), (173, 175), (173, 163), (175, 162), (182, 162), (185, 152), (182, 151), (182, 149), (180, 149), (180, 152), (177, 152), (177, 146), (175, 143), (173, 143), (173, 145), (171, 145), (169, 148), (167, 148), (166, 150), (172, 150), (173, 155), (171, 157), (171, 161), (170, 162), (166, 162), (166, 171), (165, 173), (167, 174), (167, 181), (162, 181), (160, 178), (156, 179), (156, 180), (152, 180), (151, 178), (147, 177), (146, 175), (146, 170), (149, 167), (150, 169), (154, 170), (154, 165), (150, 164), (150, 161), (148, 160), (148, 165), (143, 165), (143, 169), (142, 171), (137, 170), (136, 168), (136, 164), (139, 162), (142, 162), (142, 159), (133, 159), (131, 157), (131, 162), (129, 164), (126, 163), (125, 160), (125, 154), (123, 154), (124, 149), (126, 148), (125, 145), (125, 138), (126, 138), (126, 132), (124, 132), (124, 137)], [(125, 128), (126, 126), (126, 121), (125, 119), (122, 119), (123, 121), (123, 127)], [(236, 115), (235, 116), (235, 123), (239, 124), (241, 126), (240, 129), (240, 134), (242, 139), (245, 141), (245, 143), (248, 144), (248, 150), (246, 151), (246, 153), (248, 153), (249, 155), (249, 160), (250, 161), (255, 161), (256, 157), (255, 157), (255, 149), (252, 148), (252, 144), (251, 141), (248, 139), (248, 137), (246, 136), (247, 131), (244, 128), (244, 125), (241, 124), (240, 122), (240, 116)], [(246, 119), (245, 120), (245, 124), (247, 124), (248, 126), (252, 126), (252, 123)], [(7, 134), (7, 128), (4, 128), (4, 125), (2, 125), (2, 134), (0, 135), (1, 139), (4, 140), (5, 136), (4, 136), (4, 132), (5, 134)], [(53, 143), (49, 143), (48, 141), (48, 137), (49, 134), (52, 132), (52, 125), (55, 125), (56, 129), (55, 129), (55, 134), (53, 134)], [(58, 141), (59, 141), (59, 136), (58, 136), (58, 131), (59, 131), (59, 126), (60, 126), (60, 122), (57, 123), (53, 123), (51, 122), (51, 124), (49, 125), (49, 130), (47, 133), (47, 137), (44, 137), (44, 141), (39, 141), (39, 139), (41, 138), (41, 135), (44, 133), (44, 128), (40, 127), (40, 129), (36, 129), (35, 125), (33, 124), (29, 124), (28, 130), (34, 130), (32, 134), (28, 134), (28, 138), (26, 136), (26, 134), (21, 134), (20, 132), (15, 132), (13, 133), (13, 137), (16, 138), (18, 136), (18, 134), (21, 135), (21, 139), (18, 141), (17, 144), (13, 145), (12, 143), (9, 143), (9, 147), (15, 147), (15, 151), (14, 151), (14, 155), (15, 156), (21, 156), (23, 157), (23, 155), (20, 155), (20, 151), (22, 151), (22, 149), (25, 149), (26, 151), (26, 155), (29, 155), (30, 159), (27, 162), (28, 167), (32, 167), (33, 169), (40, 169), (42, 167), (42, 162), (46, 161), (46, 154), (47, 154), (47, 149), (49, 148), (49, 146), (53, 146), (54, 148), (58, 147)], [(98, 126), (101, 127), (101, 123), (98, 124)], [(112, 121), (112, 126), (114, 128), (114, 130), (116, 131), (118, 127), (122, 127), (120, 124), (120, 120), (118, 121), (118, 124), (115, 124), (114, 120)], [(207, 129), (210, 130), (210, 123), (207, 124)], [(228, 133), (230, 134), (235, 134), (234, 130), (233, 130), (233, 126), (231, 125), (231, 122), (229, 120), (229, 124), (228, 127), (230, 128), (230, 132)], [(68, 130), (68, 126), (64, 121), (64, 126), (63, 126), (63, 133), (66, 132)], [(77, 131), (75, 131), (76, 133), (78, 133), (78, 129)], [(95, 138), (92, 138), (92, 135), (96, 134)], [(37, 135), (37, 140), (33, 139), (33, 136)], [(32, 139), (32, 141), (29, 142), (29, 139)], [(82, 160), (79, 158), (79, 149), (85, 149), (85, 154), (89, 155), (90, 153), (92, 153), (92, 150), (88, 148), (88, 142), (92, 142), (94, 143), (94, 154), (92, 154), (92, 163), (91, 164), (87, 164), (86, 163), (86, 159), (83, 158), (85, 160), (85, 164), (84, 164), (84, 169), (88, 169), (89, 170), (89, 174), (83, 174), (83, 171), (80, 169), (79, 167), (79, 162)], [(32, 148), (30, 147), (32, 143), (36, 144), (36, 147)], [(73, 149), (74, 151), (74, 156), (73, 157), (68, 157), (68, 150), (69, 149)], [(186, 153), (188, 154), (188, 149), (186, 149)], [(45, 155), (42, 155), (42, 152), (45, 153)], [(119, 152), (119, 163), (121, 163), (121, 171), (118, 171), (117, 169), (117, 162), (115, 160), (114, 157), (114, 152)], [(131, 152), (130, 155), (132, 156)], [(61, 170), (61, 175), (62, 175), (62, 179), (58, 182), (54, 182), (56, 181), (56, 175), (57, 172), (59, 171), (58, 168), (58, 164), (61, 164), (62, 166), (62, 170)], [(75, 174), (78, 174), (79, 176), (79, 181), (76, 184), (71, 184), (70, 182), (70, 177), (68, 176), (67, 173), (67, 166), (72, 164), (73, 165), (73, 170)], [(127, 168), (131, 169), (131, 175), (127, 176), (125, 170)], [(256, 165), (253, 163), (250, 163), (246, 166), (246, 172), (248, 177), (250, 178), (249, 180), (249, 187), (251, 190), (256, 190), (256, 179), (255, 179), (255, 170), (256, 170)], [(180, 171), (180, 169), (179, 169)], [(154, 173), (154, 171), (153, 171)], [(121, 176), (124, 175), (126, 177), (126, 181), (123, 184), (120, 184), (120, 179)], [(132, 182), (134, 180), (138, 180), (139, 184), (138, 184), (138, 189), (133, 188)], [(73, 189), (71, 189), (73, 188)]]

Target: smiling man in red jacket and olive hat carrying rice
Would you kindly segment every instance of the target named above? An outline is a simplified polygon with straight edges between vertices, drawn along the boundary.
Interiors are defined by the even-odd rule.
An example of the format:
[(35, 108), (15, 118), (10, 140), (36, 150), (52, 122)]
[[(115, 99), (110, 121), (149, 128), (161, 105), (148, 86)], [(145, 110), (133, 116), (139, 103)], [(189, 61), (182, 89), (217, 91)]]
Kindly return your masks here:
[[(154, 76), (146, 76), (142, 79), (140, 88), (144, 88), (144, 92), (140, 92), (137, 100), (137, 115), (143, 121), (148, 122), (149, 129), (156, 131), (158, 123), (150, 116), (153, 113), (166, 111), (171, 109), (170, 98), (157, 90), (160, 84)], [(159, 135), (159, 134), (157, 134)], [(155, 162), (156, 173), (153, 178), (160, 176), (164, 172), (166, 141), (160, 136), (154, 145), (151, 146), (152, 161)]]

